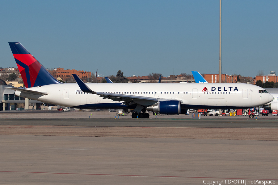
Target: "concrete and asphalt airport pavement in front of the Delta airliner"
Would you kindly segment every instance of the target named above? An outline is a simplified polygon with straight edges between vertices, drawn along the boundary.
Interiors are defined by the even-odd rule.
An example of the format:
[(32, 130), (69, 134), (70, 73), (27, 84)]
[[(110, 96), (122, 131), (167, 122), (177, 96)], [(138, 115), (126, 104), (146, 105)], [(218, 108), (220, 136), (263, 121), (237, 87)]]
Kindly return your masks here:
[(1, 184), (278, 182), (273, 117), (30, 112), (0, 113)]

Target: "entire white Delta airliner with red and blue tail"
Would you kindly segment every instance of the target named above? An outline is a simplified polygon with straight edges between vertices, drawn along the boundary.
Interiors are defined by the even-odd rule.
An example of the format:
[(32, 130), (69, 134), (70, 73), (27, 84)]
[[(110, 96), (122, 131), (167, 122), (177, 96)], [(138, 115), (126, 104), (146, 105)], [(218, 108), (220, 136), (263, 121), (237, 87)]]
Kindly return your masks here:
[(183, 114), (187, 109), (243, 109), (265, 105), (273, 96), (251, 84), (203, 83), (101, 83), (57, 81), (20, 43), (9, 43), (25, 84), (11, 88), (15, 95), (80, 109), (134, 109), (132, 117), (149, 117), (146, 111)]

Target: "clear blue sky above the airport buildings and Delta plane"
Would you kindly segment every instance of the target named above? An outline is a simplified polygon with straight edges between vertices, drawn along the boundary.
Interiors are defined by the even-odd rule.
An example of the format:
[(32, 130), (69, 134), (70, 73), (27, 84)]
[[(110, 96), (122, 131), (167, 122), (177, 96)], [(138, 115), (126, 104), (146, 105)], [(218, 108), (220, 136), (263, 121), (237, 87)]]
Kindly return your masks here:
[[(222, 1), (222, 73), (277, 71), (278, 1)], [(20, 42), (45, 68), (219, 72), (219, 1), (2, 1), (0, 67)]]

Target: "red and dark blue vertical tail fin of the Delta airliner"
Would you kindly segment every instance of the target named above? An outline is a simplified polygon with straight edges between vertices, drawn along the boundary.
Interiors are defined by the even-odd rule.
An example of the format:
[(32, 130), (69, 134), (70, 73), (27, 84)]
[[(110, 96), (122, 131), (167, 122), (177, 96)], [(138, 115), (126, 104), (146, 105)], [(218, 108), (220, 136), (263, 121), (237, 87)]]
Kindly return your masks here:
[(19, 42), (9, 42), (26, 88), (60, 84)]

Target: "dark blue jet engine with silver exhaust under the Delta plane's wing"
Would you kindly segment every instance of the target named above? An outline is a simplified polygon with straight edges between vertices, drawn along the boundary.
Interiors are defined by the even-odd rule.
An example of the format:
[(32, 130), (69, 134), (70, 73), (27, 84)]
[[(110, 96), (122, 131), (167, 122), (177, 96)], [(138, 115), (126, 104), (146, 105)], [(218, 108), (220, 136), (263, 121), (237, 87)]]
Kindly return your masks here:
[(160, 101), (154, 105), (147, 107), (146, 110), (161, 114), (180, 114), (180, 101)]

